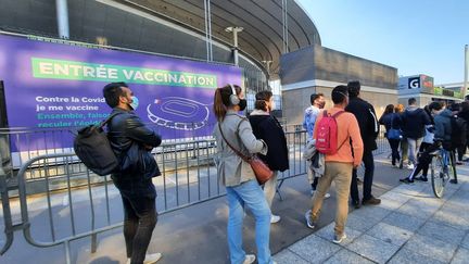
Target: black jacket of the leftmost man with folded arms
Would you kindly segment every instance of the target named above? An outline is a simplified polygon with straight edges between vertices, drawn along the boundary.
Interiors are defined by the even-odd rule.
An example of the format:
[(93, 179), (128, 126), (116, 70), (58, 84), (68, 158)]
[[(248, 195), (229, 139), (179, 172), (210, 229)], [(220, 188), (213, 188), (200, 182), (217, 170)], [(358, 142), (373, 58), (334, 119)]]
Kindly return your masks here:
[(107, 138), (111, 148), (121, 161), (121, 172), (113, 178), (151, 179), (161, 175), (151, 149), (161, 144), (162, 139), (145, 127), (132, 111), (115, 108), (111, 114), (118, 113), (107, 123)]

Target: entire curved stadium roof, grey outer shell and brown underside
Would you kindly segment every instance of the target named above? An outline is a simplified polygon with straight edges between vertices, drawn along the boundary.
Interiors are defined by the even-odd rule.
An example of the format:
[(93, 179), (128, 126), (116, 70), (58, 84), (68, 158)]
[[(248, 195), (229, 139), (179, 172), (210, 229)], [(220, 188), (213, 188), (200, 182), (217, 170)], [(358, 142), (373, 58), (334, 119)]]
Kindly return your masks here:
[[(73, 0), (67, 1), (69, 39), (198, 60), (206, 59), (205, 0)], [(284, 4), (286, 3), (286, 4)], [(240, 66), (252, 64), (278, 78), (283, 48), (283, 5), (288, 13), (288, 51), (320, 45), (318, 30), (295, 0), (211, 0), (213, 58), (232, 63), (232, 33), (238, 34)], [(0, 0), (0, 28), (58, 37), (55, 1)], [(257, 70), (258, 71), (258, 70)]]

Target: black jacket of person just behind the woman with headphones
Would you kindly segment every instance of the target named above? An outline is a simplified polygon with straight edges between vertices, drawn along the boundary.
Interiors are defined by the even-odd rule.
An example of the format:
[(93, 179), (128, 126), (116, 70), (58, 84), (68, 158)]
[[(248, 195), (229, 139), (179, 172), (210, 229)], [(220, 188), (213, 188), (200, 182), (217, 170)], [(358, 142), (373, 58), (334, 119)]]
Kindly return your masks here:
[(267, 155), (258, 154), (270, 169), (283, 172), (289, 168), (287, 139), (280, 123), (271, 115), (249, 117), (253, 134), (267, 144)]

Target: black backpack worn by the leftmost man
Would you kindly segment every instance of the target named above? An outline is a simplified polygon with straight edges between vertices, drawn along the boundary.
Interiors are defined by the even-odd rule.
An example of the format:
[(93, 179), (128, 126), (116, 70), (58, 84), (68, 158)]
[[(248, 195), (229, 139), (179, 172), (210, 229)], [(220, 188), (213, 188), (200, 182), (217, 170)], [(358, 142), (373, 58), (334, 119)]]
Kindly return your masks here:
[(119, 113), (114, 113), (98, 125), (78, 129), (74, 140), (76, 155), (93, 173), (105, 176), (119, 171), (119, 161), (114, 154), (103, 127)]

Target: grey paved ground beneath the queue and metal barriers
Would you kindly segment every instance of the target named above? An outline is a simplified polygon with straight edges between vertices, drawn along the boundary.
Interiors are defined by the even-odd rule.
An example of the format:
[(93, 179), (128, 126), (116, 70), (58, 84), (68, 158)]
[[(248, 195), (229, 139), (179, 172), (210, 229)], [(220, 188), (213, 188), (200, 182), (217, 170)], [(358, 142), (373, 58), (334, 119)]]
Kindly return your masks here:
[[(449, 252), (451, 257), (455, 253), (456, 256), (464, 252), (467, 253), (466, 249), (453, 247), (452, 243), (440, 246), (441, 242), (438, 241), (445, 240), (438, 236), (449, 234), (454, 238), (455, 234), (459, 234), (458, 236), (462, 237), (458, 243), (465, 241), (465, 244), (468, 244), (469, 238), (464, 236), (467, 235), (469, 227), (469, 216), (466, 218), (460, 216), (460, 214), (467, 214), (467, 209), (456, 208), (468, 202), (465, 200), (469, 199), (469, 196), (465, 194), (465, 190), (469, 190), (469, 184), (466, 184), (468, 179), (462, 178), (464, 184), (461, 181), (460, 185), (453, 187), (445, 194), (446, 200), (441, 201), (432, 196), (430, 184), (398, 186), (398, 178), (408, 172), (391, 167), (384, 155), (376, 158), (373, 193), (382, 196), (383, 204), (376, 208), (363, 208), (351, 213), (347, 228), (350, 238), (343, 246), (330, 242), (332, 231), (329, 224), (333, 221), (335, 211), (333, 189), (331, 190), (332, 197), (325, 202), (318, 229), (312, 230), (304, 223), (304, 212), (310, 206), (309, 186), (306, 177), (299, 176), (286, 180), (281, 189), (283, 200), (280, 201), (277, 197), (274, 202), (274, 212), (282, 217), (280, 223), (271, 227), (271, 251), (272, 253), (280, 252), (275, 259), (279, 263), (295, 263), (295, 261), (299, 263), (325, 261), (343, 263), (350, 256), (350, 261), (357, 263), (359, 260), (385, 262), (393, 256), (393, 260), (402, 262), (401, 260), (404, 260), (402, 257), (421, 256), (407, 252), (417, 248), (421, 249), (420, 252), (426, 252), (422, 256), (434, 257), (431, 261), (436, 262), (439, 252), (442, 254)], [(459, 173), (469, 175), (469, 168), (462, 166)], [(113, 218), (122, 217), (121, 210), (122, 205), (116, 197), (115, 202), (111, 204)], [(61, 210), (58, 213), (61, 217), (66, 217), (67, 211)], [(228, 263), (227, 215), (225, 198), (161, 215), (149, 251), (162, 252), (163, 259), (159, 262), (162, 264)], [(33, 219), (34, 216), (31, 216)], [(455, 224), (454, 227), (457, 228), (447, 223), (443, 226), (446, 228), (443, 229), (444, 231), (436, 229), (445, 221), (453, 219), (459, 225)], [(85, 214), (79, 214), (78, 221), (88, 222), (89, 218)], [(402, 228), (405, 234), (400, 232), (401, 229), (393, 229), (397, 227)], [(454, 234), (451, 232), (453, 229), (456, 229)], [(43, 223), (43, 229), (36, 228), (35, 230), (38, 236), (47, 235), (48, 224)], [(460, 230), (465, 230), (462, 235)], [(426, 236), (430, 236), (431, 239)], [(125, 263), (122, 229), (99, 235), (98, 240), (98, 252), (96, 253), (90, 253), (89, 238), (72, 242), (73, 263)], [(456, 240), (453, 239), (452, 242)], [(380, 247), (373, 248), (376, 244)], [(244, 248), (246, 252), (255, 253), (254, 222), (250, 215), (245, 218)], [(457, 260), (456, 256), (454, 260)], [(64, 248), (63, 246), (35, 248), (24, 240), (22, 234), (16, 232), (12, 249), (5, 255), (0, 256), (0, 263), (29, 263), (31, 260), (38, 264), (64, 263)], [(421, 262), (419, 259), (416, 260)]]

